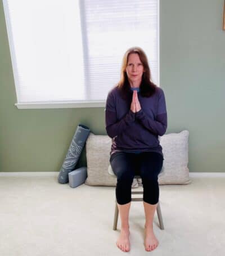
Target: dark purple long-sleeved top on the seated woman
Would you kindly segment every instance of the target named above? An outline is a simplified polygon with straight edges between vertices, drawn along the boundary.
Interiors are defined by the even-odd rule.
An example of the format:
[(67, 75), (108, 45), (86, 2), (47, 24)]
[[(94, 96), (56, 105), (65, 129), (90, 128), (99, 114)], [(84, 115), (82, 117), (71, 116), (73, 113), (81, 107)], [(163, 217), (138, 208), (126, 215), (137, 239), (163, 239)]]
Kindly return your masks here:
[(107, 95), (105, 108), (106, 132), (112, 138), (110, 155), (114, 152), (154, 151), (163, 155), (159, 136), (167, 130), (167, 107), (163, 89), (156, 88), (151, 97), (142, 97), (138, 92), (141, 110), (131, 111), (133, 91), (127, 100), (114, 87)]

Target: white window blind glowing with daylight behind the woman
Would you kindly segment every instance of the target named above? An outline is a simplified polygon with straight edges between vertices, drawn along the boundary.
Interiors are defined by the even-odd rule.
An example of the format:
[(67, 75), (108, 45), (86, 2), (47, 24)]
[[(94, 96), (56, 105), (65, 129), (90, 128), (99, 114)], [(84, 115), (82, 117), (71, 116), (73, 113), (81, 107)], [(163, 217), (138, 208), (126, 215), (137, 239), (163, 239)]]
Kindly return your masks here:
[(159, 0), (3, 0), (17, 106), (105, 106), (125, 51), (158, 84)]

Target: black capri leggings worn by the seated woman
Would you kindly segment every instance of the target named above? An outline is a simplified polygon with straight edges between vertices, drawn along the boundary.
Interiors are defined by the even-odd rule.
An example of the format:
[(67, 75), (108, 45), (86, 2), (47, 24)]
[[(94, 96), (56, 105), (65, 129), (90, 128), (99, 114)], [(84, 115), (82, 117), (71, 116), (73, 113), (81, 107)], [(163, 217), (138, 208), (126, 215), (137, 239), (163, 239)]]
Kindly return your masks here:
[(116, 201), (131, 202), (131, 186), (135, 175), (140, 175), (143, 185), (143, 201), (157, 204), (159, 201), (158, 175), (163, 167), (163, 156), (158, 152), (115, 152), (110, 164), (117, 177)]

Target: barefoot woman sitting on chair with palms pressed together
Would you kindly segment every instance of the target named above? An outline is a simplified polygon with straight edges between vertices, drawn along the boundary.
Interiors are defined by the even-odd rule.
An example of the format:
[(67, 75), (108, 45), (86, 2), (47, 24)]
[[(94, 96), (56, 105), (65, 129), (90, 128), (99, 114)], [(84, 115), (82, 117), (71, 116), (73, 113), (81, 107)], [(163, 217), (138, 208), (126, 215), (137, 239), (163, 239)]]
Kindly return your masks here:
[(153, 219), (159, 201), (158, 174), (163, 152), (158, 136), (167, 130), (167, 108), (163, 89), (151, 82), (145, 52), (129, 48), (123, 57), (121, 79), (107, 96), (105, 121), (113, 139), (110, 164), (117, 177), (116, 201), (121, 232), (116, 242), (122, 251), (130, 250), (129, 209), (131, 185), (140, 175), (145, 210), (145, 249), (154, 250), (159, 241), (153, 232)]

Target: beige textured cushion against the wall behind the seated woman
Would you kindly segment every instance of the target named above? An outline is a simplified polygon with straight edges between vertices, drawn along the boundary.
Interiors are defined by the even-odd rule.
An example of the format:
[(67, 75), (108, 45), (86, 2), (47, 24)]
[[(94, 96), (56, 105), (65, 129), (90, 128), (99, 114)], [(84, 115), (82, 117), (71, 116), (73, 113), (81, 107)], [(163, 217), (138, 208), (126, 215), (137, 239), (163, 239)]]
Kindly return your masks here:
[[(187, 130), (159, 136), (163, 147), (163, 168), (159, 174), (159, 185), (191, 183), (188, 169)], [(107, 135), (89, 134), (86, 141), (87, 173), (85, 181), (90, 186), (116, 186), (116, 177), (108, 172), (110, 165), (111, 138)], [(141, 179), (133, 182), (133, 187), (141, 185)]]

